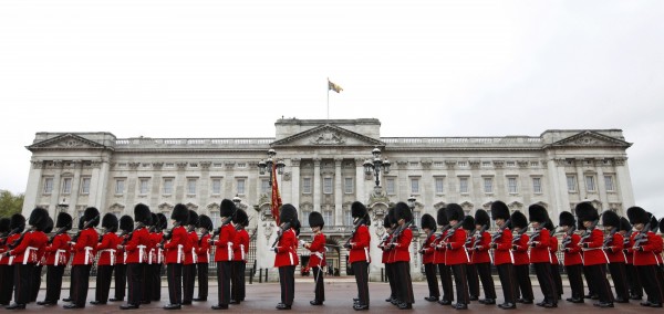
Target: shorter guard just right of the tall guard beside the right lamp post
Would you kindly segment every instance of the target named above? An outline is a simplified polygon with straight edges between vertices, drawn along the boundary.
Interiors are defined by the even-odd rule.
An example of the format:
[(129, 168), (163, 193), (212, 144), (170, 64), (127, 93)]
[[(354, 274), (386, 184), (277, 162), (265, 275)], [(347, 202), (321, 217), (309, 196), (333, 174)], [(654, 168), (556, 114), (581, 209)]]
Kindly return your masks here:
[(429, 294), (424, 300), (428, 302), (437, 302), (440, 296), (440, 290), (438, 289), (438, 276), (436, 275), (436, 264), (434, 263), (434, 257), (436, 249), (432, 247), (432, 243), (436, 240), (436, 219), (425, 213), (422, 216), (422, 231), (426, 234), (424, 243), (419, 253), (422, 254), (422, 263), (424, 264), (424, 274), (426, 276), (426, 283), (428, 284)]

